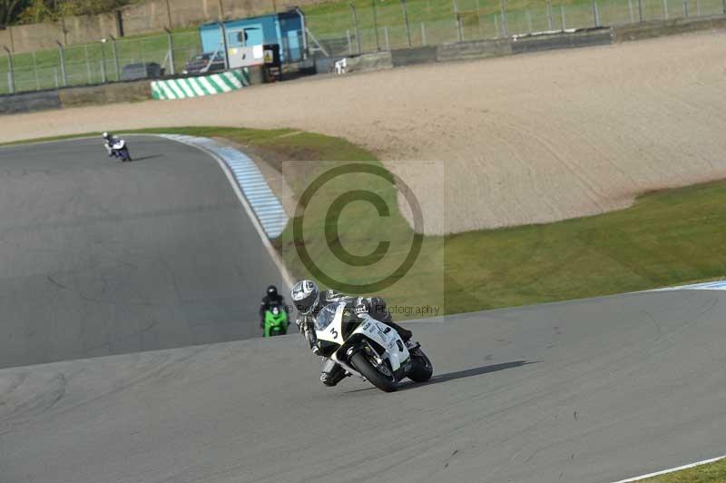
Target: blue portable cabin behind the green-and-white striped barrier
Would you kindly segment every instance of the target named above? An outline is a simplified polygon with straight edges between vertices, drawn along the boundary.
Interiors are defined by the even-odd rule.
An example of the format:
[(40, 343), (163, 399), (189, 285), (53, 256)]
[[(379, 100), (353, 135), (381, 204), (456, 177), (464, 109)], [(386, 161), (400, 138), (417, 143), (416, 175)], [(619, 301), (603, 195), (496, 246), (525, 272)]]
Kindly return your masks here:
[[(243, 45), (279, 44), (282, 62), (299, 62), (305, 58), (305, 20), (302, 12), (292, 9), (277, 15), (262, 15), (224, 23), (227, 47)], [(221, 26), (219, 23), (200, 27), (201, 51), (222, 51)], [(247, 34), (246, 39), (241, 35)]]

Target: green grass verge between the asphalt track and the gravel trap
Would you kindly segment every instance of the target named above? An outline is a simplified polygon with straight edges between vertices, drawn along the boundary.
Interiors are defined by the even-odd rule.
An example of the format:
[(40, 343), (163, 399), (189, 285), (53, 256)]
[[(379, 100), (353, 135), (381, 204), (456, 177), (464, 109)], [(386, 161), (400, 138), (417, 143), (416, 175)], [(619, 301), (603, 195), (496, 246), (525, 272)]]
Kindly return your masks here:
[[(367, 151), (344, 139), (288, 129), (160, 128), (128, 133), (182, 133), (223, 137), (250, 146), (286, 175), (298, 196), (321, 173), (346, 163), (381, 167)], [(60, 139), (48, 138), (47, 140)], [(283, 161), (289, 163), (282, 163)], [(304, 237), (291, 226), (275, 242), (294, 276), (308, 276), (302, 243), (329, 276), (368, 283), (388, 274), (406, 256), (414, 233), (397, 209), (397, 191), (381, 179), (353, 174), (325, 184), (306, 208)], [(377, 194), (390, 207), (381, 217), (369, 202), (339, 210), (330, 238), (331, 203), (350, 192)], [(598, 216), (501, 230), (424, 237), (416, 262), (396, 284), (378, 291), (392, 304), (436, 305), (446, 313), (477, 311), (641, 291), (726, 275), (726, 181), (652, 192), (633, 207)], [(328, 233), (329, 235), (329, 233)], [(358, 257), (388, 241), (390, 257), (355, 267), (329, 246)], [(406, 250), (396, 250), (404, 247)], [(371, 261), (375, 256), (368, 257)], [(313, 277), (318, 278), (320, 277)], [(401, 313), (399, 319), (430, 313)]]

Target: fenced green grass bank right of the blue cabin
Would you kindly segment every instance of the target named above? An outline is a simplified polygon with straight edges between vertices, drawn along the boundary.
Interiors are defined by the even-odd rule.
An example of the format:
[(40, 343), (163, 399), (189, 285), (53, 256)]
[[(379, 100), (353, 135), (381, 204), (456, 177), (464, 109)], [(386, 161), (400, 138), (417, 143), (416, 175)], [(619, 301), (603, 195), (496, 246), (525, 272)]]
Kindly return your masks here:
[(310, 46), (330, 56), (535, 32), (723, 15), (726, 0), (357, 0), (306, 9)]

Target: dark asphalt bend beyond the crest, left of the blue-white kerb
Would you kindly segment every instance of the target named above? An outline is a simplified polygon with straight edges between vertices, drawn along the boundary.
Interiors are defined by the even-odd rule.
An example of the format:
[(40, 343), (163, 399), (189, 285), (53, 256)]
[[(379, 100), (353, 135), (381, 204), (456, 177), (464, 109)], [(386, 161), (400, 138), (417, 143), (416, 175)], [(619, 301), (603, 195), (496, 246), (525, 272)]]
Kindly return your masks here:
[(217, 162), (127, 139), (0, 148), (0, 368), (260, 335), (280, 273)]

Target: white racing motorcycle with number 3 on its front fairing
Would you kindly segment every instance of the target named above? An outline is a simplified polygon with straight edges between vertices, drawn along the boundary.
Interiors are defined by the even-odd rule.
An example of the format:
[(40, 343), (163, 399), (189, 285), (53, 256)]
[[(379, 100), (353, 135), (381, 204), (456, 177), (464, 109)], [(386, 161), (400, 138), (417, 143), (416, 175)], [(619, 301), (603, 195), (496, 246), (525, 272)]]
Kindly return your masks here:
[(408, 378), (431, 379), (434, 368), (418, 343), (407, 348), (398, 332), (345, 302), (325, 306), (315, 319), (319, 355), (335, 360), (351, 374), (391, 392)]

